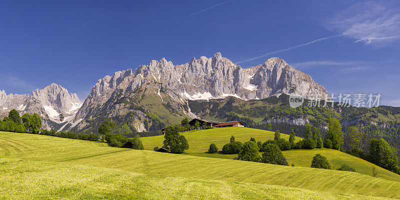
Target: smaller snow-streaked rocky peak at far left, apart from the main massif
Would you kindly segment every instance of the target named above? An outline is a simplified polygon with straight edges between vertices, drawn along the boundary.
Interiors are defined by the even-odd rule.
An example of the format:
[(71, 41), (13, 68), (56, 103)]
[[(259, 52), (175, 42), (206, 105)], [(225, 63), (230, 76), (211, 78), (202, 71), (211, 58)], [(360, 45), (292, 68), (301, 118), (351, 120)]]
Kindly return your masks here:
[(54, 124), (73, 119), (82, 102), (75, 93), (68, 93), (64, 87), (51, 83), (43, 89), (36, 89), (30, 95), (8, 94), (0, 91), (0, 117), (16, 109), (19, 114), (37, 113), (42, 118), (42, 128), (53, 128)]

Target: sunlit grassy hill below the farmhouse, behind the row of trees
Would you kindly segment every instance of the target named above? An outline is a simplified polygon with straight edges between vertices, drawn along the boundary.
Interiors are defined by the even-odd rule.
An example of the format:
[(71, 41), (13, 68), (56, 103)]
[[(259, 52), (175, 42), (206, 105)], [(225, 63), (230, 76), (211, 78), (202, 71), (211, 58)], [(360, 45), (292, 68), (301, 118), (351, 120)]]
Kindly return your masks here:
[[(245, 127), (226, 127), (187, 131), (183, 132), (183, 135), (186, 137), (189, 143), (189, 149), (186, 150), (184, 154), (233, 159), (237, 156), (237, 154), (207, 153), (206, 151), (208, 150), (209, 144), (215, 143), (218, 149), (222, 149), (223, 144), (229, 142), (229, 138), (231, 135), (235, 136), (235, 139), (241, 142), (250, 140), (250, 137), (254, 137), (257, 141), (261, 140), (262, 142), (264, 142), (267, 139), (273, 139), (274, 132)], [(281, 133), (281, 137), (288, 139), (289, 135)], [(147, 150), (153, 149), (154, 146), (161, 147), (163, 139), (163, 135), (141, 138), (144, 149)], [(296, 141), (299, 139), (301, 138), (296, 137)], [(295, 166), (309, 167), (311, 166), (312, 157), (316, 153), (320, 153), (321, 155), (327, 157), (332, 166), (332, 169), (337, 169), (342, 164), (348, 164), (354, 167), (355, 170), (359, 173), (371, 175), (372, 167), (375, 166), (376, 170), (378, 171), (377, 177), (400, 181), (400, 175), (378, 167), (358, 157), (340, 152), (338, 150), (314, 148), (311, 150), (292, 149), (282, 152), (286, 156), (289, 165), (294, 164)]]

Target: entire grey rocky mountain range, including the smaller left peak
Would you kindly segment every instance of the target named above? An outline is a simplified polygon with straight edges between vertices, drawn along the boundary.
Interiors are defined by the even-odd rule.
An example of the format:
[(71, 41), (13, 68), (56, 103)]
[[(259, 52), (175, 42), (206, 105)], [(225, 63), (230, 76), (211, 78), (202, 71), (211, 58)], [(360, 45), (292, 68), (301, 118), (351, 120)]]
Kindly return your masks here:
[(137, 131), (155, 131), (182, 117), (197, 117), (189, 100), (227, 96), (251, 100), (292, 92), (304, 98), (328, 95), (322, 85), (283, 59), (271, 57), (263, 64), (242, 68), (218, 52), (180, 65), (165, 58), (151, 60), (135, 71), (106, 75), (84, 102), (55, 83), (31, 95), (0, 91), (0, 117), (15, 108), (21, 114), (38, 113), (47, 129), (95, 132), (104, 118), (114, 118)]

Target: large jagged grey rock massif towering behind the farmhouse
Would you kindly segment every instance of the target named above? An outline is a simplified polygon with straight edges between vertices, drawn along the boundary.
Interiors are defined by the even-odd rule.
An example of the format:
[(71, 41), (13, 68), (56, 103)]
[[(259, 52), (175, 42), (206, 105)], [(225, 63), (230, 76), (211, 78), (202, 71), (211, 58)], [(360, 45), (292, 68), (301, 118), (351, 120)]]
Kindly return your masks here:
[[(138, 88), (152, 91), (160, 97), (160, 103), (183, 110), (185, 115), (191, 118), (195, 115), (185, 106), (188, 99), (208, 100), (235, 96), (247, 100), (290, 92), (305, 98), (312, 98), (314, 94), (328, 95), (326, 89), (309, 75), (294, 69), (277, 57), (249, 68), (241, 68), (222, 57), (219, 52), (210, 58), (193, 57), (181, 65), (173, 65), (171, 61), (162, 58), (159, 61), (151, 60), (148, 65), (138, 66), (134, 73), (127, 69), (99, 79), (74, 119), (70, 121), (70, 125), (66, 127), (71, 128), (83, 119), (93, 117), (95, 113), (104, 110), (113, 115), (126, 113), (126, 107), (123, 108), (120, 104), (113, 106), (113, 102), (123, 96), (134, 95)], [(162, 96), (167, 96), (167, 99)], [(118, 110), (115, 110), (116, 107)]]

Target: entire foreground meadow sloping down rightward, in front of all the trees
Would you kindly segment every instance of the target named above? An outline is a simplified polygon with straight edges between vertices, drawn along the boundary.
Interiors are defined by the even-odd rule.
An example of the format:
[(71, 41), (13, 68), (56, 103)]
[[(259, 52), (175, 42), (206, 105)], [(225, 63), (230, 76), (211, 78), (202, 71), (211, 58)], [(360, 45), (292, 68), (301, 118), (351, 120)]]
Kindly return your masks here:
[[(134, 196), (135, 192), (142, 191), (144, 194), (148, 193), (148, 198), (159, 199), (161, 197), (164, 198), (164, 196), (162, 196), (163, 194), (158, 194), (158, 192), (162, 193), (169, 190), (176, 191), (176, 195), (178, 195), (179, 198), (184, 198), (185, 193), (181, 191), (184, 190), (191, 192), (187, 194), (190, 198), (202, 198), (204, 196), (208, 196), (204, 198), (213, 198), (211, 197), (214, 195), (211, 194), (213, 191), (223, 194), (224, 192), (222, 192), (222, 189), (228, 189), (228, 191), (232, 191), (230, 193), (228, 192), (228, 196), (216, 196), (215, 198), (234, 199), (243, 198), (247, 195), (249, 198), (255, 199), (273, 198), (273, 196), (268, 196), (272, 195), (268, 194), (271, 193), (271, 191), (277, 192), (272, 192), (274, 193), (273, 195), (278, 195), (281, 198), (287, 199), (291, 199), (293, 196), (299, 196), (297, 198), (300, 199), (312, 198), (313, 194), (321, 195), (321, 198), (363, 198), (362, 196), (352, 196), (350, 194), (400, 198), (400, 182), (375, 178), (360, 173), (159, 153), (149, 150), (123, 149), (108, 147), (101, 142), (37, 134), (0, 132), (0, 157), (6, 158), (6, 161), (0, 164), (1, 170), (6, 172), (9, 170), (10, 166), (16, 167), (15, 170), (8, 171), (8, 173), (11, 174), (0, 177), (3, 187), (2, 195), (6, 195), (4, 188), (9, 188), (6, 190), (18, 193), (16, 189), (20, 188), (19, 191), (22, 191), (24, 190), (23, 185), (26, 184), (27, 186), (33, 185), (34, 187), (38, 187), (34, 189), (35, 191), (25, 191), (25, 193), (28, 193), (27, 195), (40, 196), (40, 194), (34, 194), (34, 192), (44, 192), (46, 196), (56, 195), (55, 193), (51, 193), (54, 189), (59, 190), (59, 192), (76, 193), (77, 196), (87, 195), (87, 197), (82, 199), (90, 199), (90, 195), (95, 195), (90, 193), (94, 192), (90, 189), (95, 190), (95, 188), (91, 188), (92, 186), (95, 187), (95, 185), (98, 185), (96, 188), (101, 189), (99, 184), (111, 184), (109, 189), (112, 191), (108, 190), (108, 188), (103, 188), (101, 190), (103, 194), (101, 194), (101, 192), (99, 193), (102, 196), (121, 195), (120, 198), (123, 199), (127, 198), (126, 196), (122, 196), (125, 195), (122, 194), (123, 191), (130, 191), (132, 193), (131, 196)], [(6, 164), (12, 162), (9, 160), (14, 159), (19, 161)], [(39, 162), (40, 165), (37, 164)], [(17, 168), (17, 166), (19, 166), (18, 164), (20, 164), (19, 168)], [(46, 175), (45, 172), (41, 171), (41, 165), (45, 167), (47, 164), (49, 164), (49, 168), (56, 167), (54, 174)], [(39, 168), (36, 169), (35, 167)], [(61, 169), (63, 167), (79, 170), (77, 170), (76, 173), (64, 173), (63, 171), (65, 171), (65, 169)], [(93, 171), (93, 173), (96, 174), (95, 177), (100, 176), (94, 178), (92, 180), (94, 183), (89, 185), (87, 189), (80, 188), (81, 186), (79, 186), (86, 185), (87, 182), (90, 182), (84, 178), (84, 174), (81, 174), (86, 173), (85, 171), (87, 173), (88, 171)], [(110, 171), (110, 175), (107, 174), (108, 171)], [(5, 172), (4, 174), (6, 174)], [(59, 173), (61, 173), (59, 178), (62, 179), (65, 184), (67, 183), (67, 185), (57, 185), (57, 183), (54, 185), (56, 188), (52, 189), (52, 187), (46, 188), (45, 183), (29, 183), (30, 181), (34, 181), (34, 179), (40, 180), (44, 178), (48, 181), (48, 184), (51, 184), (56, 182), (56, 180), (52, 180), (51, 178), (53, 176), (57, 177)], [(131, 182), (126, 185), (127, 183), (124, 183), (124, 181), (126, 182), (128, 180), (123, 178), (118, 179), (119, 176), (116, 175), (124, 174), (125, 176), (129, 176), (133, 173), (140, 173), (145, 177), (156, 178), (148, 180), (143, 178), (143, 181), (148, 184), (148, 187), (143, 186), (143, 190), (141, 190), (141, 188), (134, 188), (135, 184), (142, 184), (139, 180), (133, 178)], [(65, 177), (64, 180), (62, 176), (67, 177)], [(157, 178), (160, 178), (160, 180)], [(15, 187), (15, 189), (10, 189), (12, 186), (5, 186), (6, 182), (10, 181), (10, 179), (12, 179), (11, 182), (15, 181), (11, 184), (14, 185), (13, 187)], [(174, 184), (171, 182), (163, 182), (165, 180), (170, 180), (171, 182), (181, 180), (181, 183), (177, 182)], [(118, 181), (121, 181), (121, 185), (118, 184)], [(190, 182), (192, 182), (191, 185), (187, 186), (186, 184)], [(19, 184), (21, 184), (20, 187), (18, 187)], [(214, 184), (220, 185), (214, 188)], [(226, 186), (227, 184), (233, 186)], [(170, 188), (162, 187), (165, 190), (153, 188), (157, 186), (161, 187), (160, 185), (171, 186)], [(127, 187), (128, 190), (123, 190), (122, 187)], [(236, 188), (236, 192), (234, 192), (232, 187)], [(121, 192), (119, 192), (118, 188), (121, 189)], [(153, 189), (154, 192), (147, 191), (147, 189)], [(118, 192), (115, 193), (115, 191)], [(290, 191), (295, 192), (292, 193)], [(307, 192), (314, 193), (309, 195)], [(341, 194), (338, 193), (346, 194), (341, 196)], [(102, 198), (101, 195), (95, 198)], [(51, 197), (46, 198), (52, 199)], [(168, 199), (168, 197), (166, 198)]]

